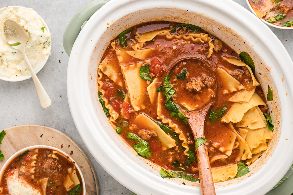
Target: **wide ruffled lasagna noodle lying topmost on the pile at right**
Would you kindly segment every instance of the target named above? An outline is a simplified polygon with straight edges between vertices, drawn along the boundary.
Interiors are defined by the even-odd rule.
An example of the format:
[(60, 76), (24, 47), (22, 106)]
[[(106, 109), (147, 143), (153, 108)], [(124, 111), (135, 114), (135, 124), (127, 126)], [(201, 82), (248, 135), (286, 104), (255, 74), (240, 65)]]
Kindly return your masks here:
[(235, 102), (231, 108), (228, 110), (228, 112), (225, 113), (223, 118), (221, 119), (221, 122), (225, 123), (237, 123), (241, 121), (244, 114), (251, 108), (259, 105), (266, 105), (265, 102), (260, 98), (260, 96), (257, 93), (254, 93), (251, 97), (249, 102)]

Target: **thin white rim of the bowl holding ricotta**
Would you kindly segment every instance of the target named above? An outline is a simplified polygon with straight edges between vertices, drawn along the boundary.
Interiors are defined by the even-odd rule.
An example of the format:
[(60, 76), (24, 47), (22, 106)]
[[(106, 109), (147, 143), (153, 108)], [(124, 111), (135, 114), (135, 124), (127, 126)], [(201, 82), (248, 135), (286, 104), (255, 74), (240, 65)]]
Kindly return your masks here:
[[(7, 7), (3, 7), (3, 8), (0, 9), (0, 14), (1, 14), (6, 8), (9, 8), (9, 7), (13, 7), (13, 8), (16, 8), (16, 9), (18, 9), (18, 8), (26, 8), (26, 7), (23, 7), (23, 6), (7, 6)], [(38, 16), (40, 17), (40, 19), (41, 19), (42, 23), (44, 24), (45, 28), (50, 32), (50, 30), (49, 30), (47, 24), (45, 23), (45, 21), (43, 20), (43, 18), (42, 18), (39, 14), (38, 14)], [(49, 45), (49, 50), (50, 50), (50, 52), (51, 52), (51, 46), (52, 46), (52, 38), (51, 38), (51, 44)], [(46, 62), (47, 62), (49, 56), (50, 56), (50, 55), (47, 55), (47, 57), (46, 57), (44, 63), (43, 63), (38, 69), (35, 69), (35, 67), (33, 68), (36, 74), (37, 74), (38, 72), (40, 72), (40, 70), (45, 66), (45, 64), (46, 64)], [(4, 81), (17, 82), (17, 81), (24, 81), (24, 80), (29, 79), (29, 78), (31, 78), (31, 77), (32, 77), (32, 75), (29, 74), (29, 75), (26, 75), (26, 76), (19, 77), (19, 79), (18, 79), (18, 78), (17, 78), (17, 79), (12, 79), (12, 78), (5, 78), (5, 77), (0, 77), (0, 79), (1, 79), (1, 80), (4, 80)]]

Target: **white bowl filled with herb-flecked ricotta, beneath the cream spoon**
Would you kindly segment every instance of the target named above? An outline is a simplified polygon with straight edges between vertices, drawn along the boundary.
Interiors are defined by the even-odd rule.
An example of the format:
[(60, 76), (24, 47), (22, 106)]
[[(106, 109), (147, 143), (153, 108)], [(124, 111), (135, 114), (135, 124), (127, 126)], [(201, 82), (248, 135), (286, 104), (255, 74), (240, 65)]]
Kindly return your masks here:
[(22, 53), (6, 41), (3, 32), (4, 22), (11, 19), (27, 33), (25, 52), (35, 73), (46, 64), (51, 55), (51, 33), (45, 21), (32, 8), (7, 6), (0, 9), (0, 79), (23, 81), (31, 77)]

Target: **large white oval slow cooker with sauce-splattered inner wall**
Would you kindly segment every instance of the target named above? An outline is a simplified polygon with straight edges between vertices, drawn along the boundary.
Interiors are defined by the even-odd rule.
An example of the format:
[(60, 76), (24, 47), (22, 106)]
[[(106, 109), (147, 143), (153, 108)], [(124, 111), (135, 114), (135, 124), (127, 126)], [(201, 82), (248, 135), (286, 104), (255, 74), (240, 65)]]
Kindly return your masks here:
[[(98, 101), (97, 68), (110, 41), (135, 24), (164, 20), (200, 26), (236, 52), (247, 51), (253, 56), (264, 93), (268, 85), (274, 92), (274, 101), (268, 106), (275, 129), (268, 149), (249, 166), (250, 172), (245, 176), (215, 183), (216, 193), (265, 194), (282, 179), (293, 163), (293, 63), (264, 23), (231, 0), (112, 0), (106, 4), (94, 0), (89, 4), (69, 23), (64, 34), (64, 48), (70, 53), (66, 39), (74, 41), (79, 32), (73, 30), (74, 26), (83, 27), (70, 53), (67, 95), (81, 138), (112, 177), (136, 194), (200, 194), (198, 182), (161, 178), (160, 167), (138, 156), (113, 130)], [(105, 5), (84, 23), (83, 14), (94, 4)]]

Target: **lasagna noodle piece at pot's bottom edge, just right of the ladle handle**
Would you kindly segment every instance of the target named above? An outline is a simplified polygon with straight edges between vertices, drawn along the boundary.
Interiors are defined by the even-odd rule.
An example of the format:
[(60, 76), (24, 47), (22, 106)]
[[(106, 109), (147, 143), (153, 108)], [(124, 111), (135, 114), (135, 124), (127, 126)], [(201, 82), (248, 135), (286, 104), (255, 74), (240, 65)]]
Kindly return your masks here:
[(233, 178), (237, 174), (238, 165), (232, 164), (232, 165), (226, 165), (223, 167), (216, 167), (212, 168), (212, 176), (214, 183), (217, 183), (219, 181), (227, 181), (228, 178)]

